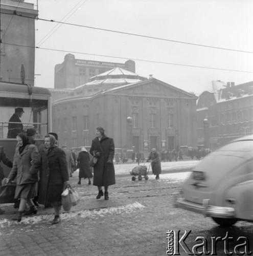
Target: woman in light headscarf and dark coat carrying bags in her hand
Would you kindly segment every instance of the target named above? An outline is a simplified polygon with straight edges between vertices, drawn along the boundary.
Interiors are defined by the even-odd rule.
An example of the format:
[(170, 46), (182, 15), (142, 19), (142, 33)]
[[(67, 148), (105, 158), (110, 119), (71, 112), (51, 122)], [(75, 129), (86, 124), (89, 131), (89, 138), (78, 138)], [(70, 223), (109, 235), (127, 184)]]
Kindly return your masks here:
[(61, 193), (68, 184), (68, 169), (66, 155), (62, 148), (57, 146), (53, 135), (44, 138), (45, 148), (41, 151), (41, 171), (38, 202), (51, 205), (54, 208), (52, 224), (61, 222)]

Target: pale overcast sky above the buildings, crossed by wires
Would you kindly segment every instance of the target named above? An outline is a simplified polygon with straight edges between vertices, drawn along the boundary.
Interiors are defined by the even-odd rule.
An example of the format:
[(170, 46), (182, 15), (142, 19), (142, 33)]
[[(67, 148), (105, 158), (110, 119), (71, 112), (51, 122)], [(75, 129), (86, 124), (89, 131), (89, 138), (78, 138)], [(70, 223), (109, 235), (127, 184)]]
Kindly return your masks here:
[(41, 19), (190, 44), (36, 20), (35, 86), (54, 88), (54, 67), (67, 53), (77, 59), (132, 59), (137, 74), (196, 94), (211, 90), (212, 80), (253, 81), (251, 0), (38, 0), (38, 11)]

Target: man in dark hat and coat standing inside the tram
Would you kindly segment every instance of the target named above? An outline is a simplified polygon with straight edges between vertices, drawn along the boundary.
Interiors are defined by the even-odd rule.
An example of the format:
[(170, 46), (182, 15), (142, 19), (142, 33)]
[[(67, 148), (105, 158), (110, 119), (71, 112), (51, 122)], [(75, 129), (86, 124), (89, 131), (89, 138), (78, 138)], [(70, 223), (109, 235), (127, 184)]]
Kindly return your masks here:
[(15, 113), (9, 120), (7, 138), (15, 139), (17, 134), (24, 133), (23, 124), (20, 120), (23, 113), (25, 113), (23, 108), (15, 109)]

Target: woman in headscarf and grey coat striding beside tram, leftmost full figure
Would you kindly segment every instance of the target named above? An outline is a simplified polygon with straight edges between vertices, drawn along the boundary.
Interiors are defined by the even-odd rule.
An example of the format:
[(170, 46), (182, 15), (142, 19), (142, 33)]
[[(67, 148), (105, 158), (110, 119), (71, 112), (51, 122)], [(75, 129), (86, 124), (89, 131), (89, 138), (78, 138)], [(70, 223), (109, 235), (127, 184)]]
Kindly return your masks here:
[(16, 177), (15, 199), (20, 199), (17, 216), (12, 220), (20, 222), (26, 203), (30, 206), (29, 214), (37, 214), (33, 198), (37, 195), (37, 181), (40, 159), (37, 147), (30, 144), (29, 138), (24, 133), (17, 135), (17, 147), (14, 162), (8, 176), (10, 182)]

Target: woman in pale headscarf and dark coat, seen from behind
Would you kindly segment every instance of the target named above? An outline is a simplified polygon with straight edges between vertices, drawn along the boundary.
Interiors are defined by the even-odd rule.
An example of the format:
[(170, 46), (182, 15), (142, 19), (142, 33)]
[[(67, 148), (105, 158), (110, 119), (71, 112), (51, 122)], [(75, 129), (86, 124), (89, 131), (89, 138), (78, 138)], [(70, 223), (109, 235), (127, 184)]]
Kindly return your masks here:
[(81, 148), (81, 151), (77, 158), (77, 164), (79, 167), (79, 181), (77, 184), (81, 185), (81, 179), (88, 178), (88, 184), (91, 184), (90, 178), (93, 177), (90, 167), (89, 167), (89, 153), (85, 147)]

